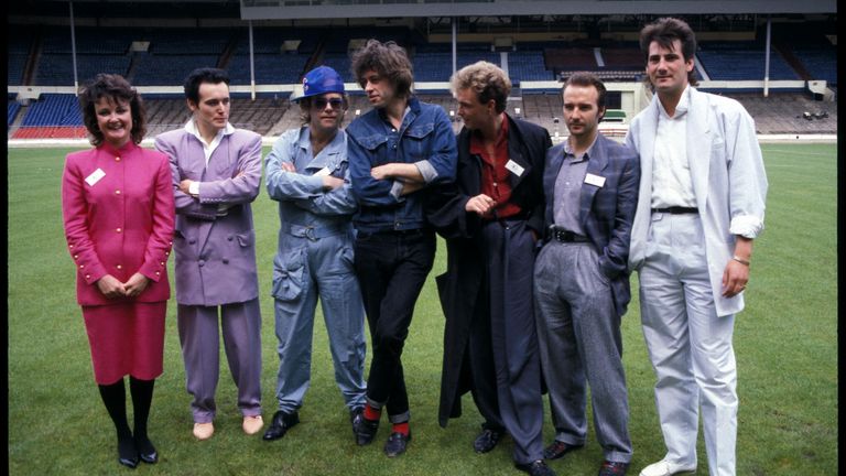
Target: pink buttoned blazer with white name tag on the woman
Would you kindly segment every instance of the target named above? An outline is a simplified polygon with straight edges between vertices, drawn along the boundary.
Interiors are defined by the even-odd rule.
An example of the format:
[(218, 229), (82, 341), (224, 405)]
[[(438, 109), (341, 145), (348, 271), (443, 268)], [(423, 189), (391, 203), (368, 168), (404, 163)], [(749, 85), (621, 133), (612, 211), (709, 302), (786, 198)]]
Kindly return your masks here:
[(100, 293), (97, 280), (150, 278), (137, 302), (171, 296), (167, 257), (173, 246), (174, 205), (167, 156), (129, 142), (100, 144), (65, 159), (62, 177), (65, 238), (76, 264), (80, 305), (120, 302)]

